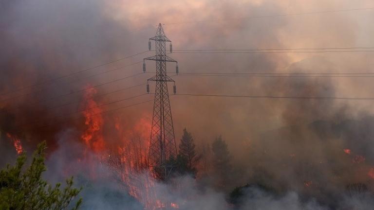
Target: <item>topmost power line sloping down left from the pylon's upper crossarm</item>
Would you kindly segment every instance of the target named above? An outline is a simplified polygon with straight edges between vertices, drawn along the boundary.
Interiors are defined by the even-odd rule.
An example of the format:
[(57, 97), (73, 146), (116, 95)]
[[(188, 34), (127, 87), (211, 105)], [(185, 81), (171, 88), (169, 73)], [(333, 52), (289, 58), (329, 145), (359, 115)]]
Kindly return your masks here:
[(93, 70), (93, 69), (96, 69), (96, 68), (99, 68), (99, 67), (103, 67), (103, 66), (115, 63), (117, 61), (121, 61), (121, 60), (131, 58), (133, 56), (140, 55), (140, 54), (147, 53), (147, 52), (149, 52), (149, 51), (144, 51), (144, 52), (141, 52), (141, 53), (135, 53), (135, 54), (132, 54), (132, 55), (129, 55), (129, 56), (126, 56), (126, 57), (123, 57), (123, 58), (115, 59), (115, 60), (112, 60), (110, 62), (103, 63), (103, 64), (100, 64), (100, 65), (97, 65), (97, 66), (94, 66), (94, 67), (91, 67), (91, 68), (76, 71), (76, 72), (66, 74), (66, 75), (63, 75), (63, 76), (59, 76), (59, 77), (55, 77), (55, 78), (52, 78), (52, 79), (47, 79), (47, 80), (44, 80), (42, 82), (35, 83), (35, 84), (29, 85), (29, 86), (25, 86), (25, 87), (22, 87), (22, 88), (19, 88), (19, 89), (11, 90), (11, 91), (8, 91), (8, 92), (5, 92), (5, 93), (0, 93), (0, 96), (7, 95), (7, 94), (10, 94), (10, 93), (13, 93), (13, 92), (18, 92), (18, 91), (26, 89), (26, 88), (33, 88), (33, 87), (36, 87), (36, 86), (39, 86), (39, 85), (42, 85), (42, 84), (45, 84), (45, 83), (51, 83), (51, 82), (54, 82), (54, 81), (59, 80), (59, 79), (63, 79), (63, 78), (66, 78), (66, 77), (69, 77), (69, 76), (72, 76), (72, 75), (75, 75), (75, 74), (78, 74), (78, 73), (82, 73), (82, 72), (85, 72), (85, 71)]

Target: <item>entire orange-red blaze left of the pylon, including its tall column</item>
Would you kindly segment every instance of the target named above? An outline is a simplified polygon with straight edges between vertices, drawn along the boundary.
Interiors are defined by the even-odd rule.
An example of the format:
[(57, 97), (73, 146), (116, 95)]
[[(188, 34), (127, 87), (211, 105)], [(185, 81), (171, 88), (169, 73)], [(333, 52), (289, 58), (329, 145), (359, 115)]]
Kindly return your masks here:
[[(81, 135), (83, 142), (96, 155), (101, 155), (101, 163), (107, 164), (111, 171), (120, 177), (126, 184), (129, 194), (139, 200), (146, 210), (178, 208), (177, 204), (160, 200), (160, 195), (153, 190), (156, 180), (148, 171), (147, 165), (151, 129), (149, 117), (143, 117), (131, 126), (125, 121), (126, 119), (115, 118), (113, 127), (117, 135), (112, 135), (112, 137), (118, 137), (118, 140), (105, 141), (104, 120), (100, 115), (102, 110), (93, 100), (96, 92), (94, 88), (89, 87), (84, 93), (83, 116), (86, 130)], [(91, 165), (90, 159), (87, 159), (89, 157), (85, 158), (84, 161), (88, 161), (87, 163)], [(148, 174), (145, 175), (146, 173)]]

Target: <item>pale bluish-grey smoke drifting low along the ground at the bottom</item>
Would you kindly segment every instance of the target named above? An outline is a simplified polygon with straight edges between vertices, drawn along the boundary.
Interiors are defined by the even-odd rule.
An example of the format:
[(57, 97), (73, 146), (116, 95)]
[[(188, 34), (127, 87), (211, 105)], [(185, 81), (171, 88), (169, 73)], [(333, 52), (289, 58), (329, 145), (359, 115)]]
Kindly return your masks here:
[[(87, 166), (87, 162), (77, 162), (76, 158), (81, 157), (84, 145), (72, 141), (76, 133), (73, 130), (59, 135), (59, 149), (53, 153), (47, 162), (47, 178), (52, 182), (62, 181), (64, 174), (75, 175), (76, 185), (83, 186), (80, 196), (84, 197), (82, 209), (91, 210), (141, 210), (144, 205), (142, 199), (134, 199), (126, 189), (129, 186), (124, 184), (120, 178), (112, 174), (108, 168), (97, 158), (97, 154), (86, 154), (91, 156), (90, 165), (95, 165), (94, 171)], [(69, 156), (65, 154), (69, 153)], [(94, 175), (92, 177), (91, 175)], [(136, 174), (137, 179), (152, 180), (148, 174)], [(132, 184), (139, 184), (133, 182)], [(140, 186), (138, 186), (140, 187)], [(139, 188), (140, 194), (146, 196), (149, 193), (154, 198), (162, 199), (164, 209), (181, 210), (207, 209), (207, 210), (345, 210), (345, 209), (370, 209), (373, 205), (373, 195), (370, 193), (345, 194), (340, 197), (337, 206), (329, 208), (321, 205), (316, 199), (303, 198), (297, 192), (284, 191), (282, 193), (251, 185), (241, 189), (241, 196), (237, 197), (233, 205), (224, 192), (203, 187), (199, 181), (190, 176), (174, 178), (170, 183), (155, 182), (150, 188)], [(143, 197), (144, 199), (144, 197)], [(148, 197), (147, 199), (153, 199)], [(151, 202), (151, 201), (149, 201)], [(177, 206), (172, 206), (174, 204)]]

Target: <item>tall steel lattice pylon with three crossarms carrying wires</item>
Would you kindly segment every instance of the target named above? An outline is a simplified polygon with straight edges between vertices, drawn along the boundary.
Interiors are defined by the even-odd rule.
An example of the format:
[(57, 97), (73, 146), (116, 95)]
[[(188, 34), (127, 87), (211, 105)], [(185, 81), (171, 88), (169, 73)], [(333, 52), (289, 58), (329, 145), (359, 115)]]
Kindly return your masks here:
[[(147, 92), (150, 90), (149, 81), (156, 82), (156, 89), (150, 134), (149, 166), (159, 179), (167, 180), (174, 165), (172, 159), (177, 155), (177, 147), (171, 117), (168, 82), (174, 83), (174, 93), (176, 89), (174, 80), (167, 75), (166, 62), (177, 63), (177, 61), (166, 55), (166, 42), (170, 42), (170, 53), (172, 47), (171, 41), (165, 36), (161, 23), (158, 25), (156, 36), (150, 40), (155, 41), (156, 55), (144, 60), (156, 61), (156, 75), (147, 80)], [(143, 71), (145, 71), (145, 62), (143, 62)], [(178, 73), (178, 63), (176, 71)]]

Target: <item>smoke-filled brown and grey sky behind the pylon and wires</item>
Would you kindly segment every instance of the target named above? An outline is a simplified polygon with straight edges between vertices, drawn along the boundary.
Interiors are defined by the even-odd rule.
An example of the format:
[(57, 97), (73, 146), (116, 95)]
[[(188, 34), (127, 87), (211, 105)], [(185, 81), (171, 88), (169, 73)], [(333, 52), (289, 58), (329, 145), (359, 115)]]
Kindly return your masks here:
[[(82, 103), (72, 103), (84, 97), (80, 90), (141, 73), (141, 63), (131, 64), (154, 53), (142, 52), (148, 50), (148, 39), (155, 35), (158, 23), (165, 23), (164, 31), (172, 40), (174, 52), (374, 47), (373, 9), (304, 14), (372, 7), (372, 0), (1, 1), (0, 129), (2, 133), (18, 135), (30, 150), (40, 140), (47, 140), (51, 151), (57, 150), (61, 133), (66, 129), (85, 129), (84, 119), (79, 118), (82, 113), (77, 113)], [(282, 14), (304, 15), (277, 16)], [(246, 18), (273, 15), (277, 17)], [(135, 53), (142, 54), (85, 70)], [(374, 66), (370, 52), (171, 53), (169, 56), (178, 61), (181, 73), (357, 73), (373, 72)], [(124, 66), (128, 67), (120, 68)], [(174, 75), (174, 68), (174, 64), (168, 65), (170, 75)], [(63, 77), (80, 70), (85, 71)], [(111, 71), (100, 74), (108, 70)], [(154, 63), (147, 62), (147, 71), (155, 71)], [(95, 88), (97, 95), (143, 84), (99, 96), (95, 102), (107, 104), (146, 93), (144, 83), (152, 75), (146, 73), (100, 85)], [(62, 78), (50, 81), (58, 77)], [(178, 75), (173, 79), (177, 92), (187, 94), (374, 97), (371, 91), (374, 78), (370, 76)], [(33, 84), (40, 85), (30, 87)], [(153, 83), (150, 88), (152, 92)], [(116, 109), (152, 97), (144, 95), (100, 109)], [(59, 106), (67, 103), (72, 104)], [(257, 180), (262, 172), (261, 177), (272, 177), (277, 188), (287, 185), (295, 191), (300, 186), (294, 181), (300, 176), (327, 185), (328, 192), (341, 190), (337, 186), (351, 181), (368, 182), (365, 170), (374, 164), (372, 100), (176, 95), (170, 97), (170, 103), (177, 140), (185, 127), (200, 146), (222, 135), (233, 165), (241, 168), (233, 185)], [(56, 106), (59, 107), (48, 108)], [(136, 128), (147, 132), (152, 108), (152, 103), (145, 103), (110, 112), (103, 115), (104, 128), (120, 122), (126, 131)], [(67, 113), (73, 113), (69, 117), (75, 118), (66, 120)], [(110, 131), (107, 129), (104, 137), (112, 138)], [(1, 141), (2, 151), (13, 149), (5, 135)], [(351, 157), (343, 152), (347, 148), (352, 150)], [(360, 166), (364, 172), (352, 170), (346, 177), (336, 177), (337, 171), (356, 167), (351, 164), (355, 156), (366, 158), (365, 165)], [(5, 162), (6, 158), (0, 163)], [(369, 184), (373, 187), (372, 182)], [(293, 195), (290, 196), (292, 199)]]

